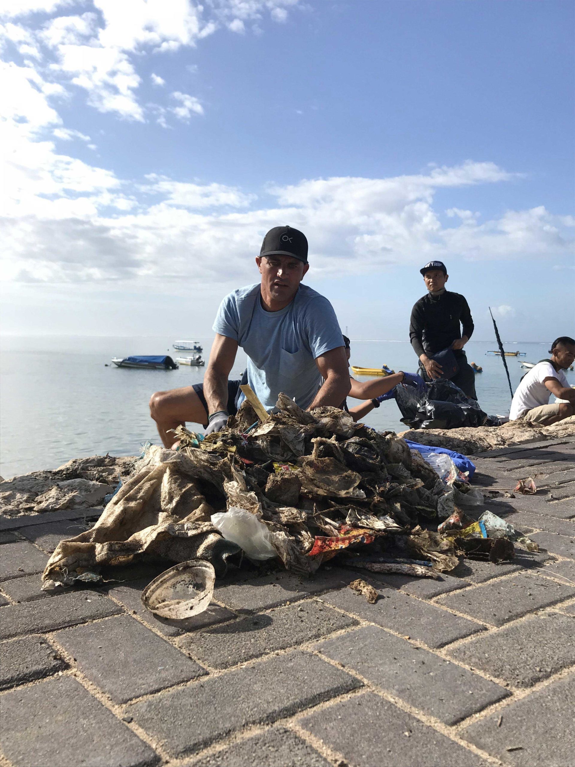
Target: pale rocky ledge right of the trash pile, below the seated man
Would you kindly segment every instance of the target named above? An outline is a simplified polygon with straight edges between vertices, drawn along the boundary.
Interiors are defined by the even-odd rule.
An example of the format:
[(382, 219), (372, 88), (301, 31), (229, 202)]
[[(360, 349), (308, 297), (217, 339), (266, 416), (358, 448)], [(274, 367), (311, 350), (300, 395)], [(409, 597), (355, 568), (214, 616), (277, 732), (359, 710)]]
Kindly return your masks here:
[(421, 445), (446, 447), (449, 450), (457, 450), (464, 456), (474, 456), (499, 447), (575, 436), (575, 416), (552, 426), (537, 426), (519, 419), (504, 423), (503, 426), (477, 426), (475, 429), (410, 429), (398, 436), (419, 442)]

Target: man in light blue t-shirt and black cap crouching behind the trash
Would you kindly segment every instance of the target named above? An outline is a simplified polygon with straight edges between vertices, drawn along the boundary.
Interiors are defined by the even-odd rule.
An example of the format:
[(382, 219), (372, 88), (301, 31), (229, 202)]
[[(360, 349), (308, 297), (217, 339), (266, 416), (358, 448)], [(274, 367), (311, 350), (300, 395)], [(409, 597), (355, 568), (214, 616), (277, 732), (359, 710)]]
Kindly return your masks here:
[(343, 336), (327, 298), (302, 284), (307, 273), (307, 239), (291, 226), (265, 235), (255, 259), (261, 281), (239, 288), (220, 304), (215, 340), (203, 384), (153, 394), (150, 413), (166, 447), (171, 430), (186, 421), (205, 433), (222, 430), (245, 399), (240, 381), (228, 380), (238, 347), (248, 355), (243, 383), (266, 410), (283, 392), (308, 410), (339, 407), (350, 391)]

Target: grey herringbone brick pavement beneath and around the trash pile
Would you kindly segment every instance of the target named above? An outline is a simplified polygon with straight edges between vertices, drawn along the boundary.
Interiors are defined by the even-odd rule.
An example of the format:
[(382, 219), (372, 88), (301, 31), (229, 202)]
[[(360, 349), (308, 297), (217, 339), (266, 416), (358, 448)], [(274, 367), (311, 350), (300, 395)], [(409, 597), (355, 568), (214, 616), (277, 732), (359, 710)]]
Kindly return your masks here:
[(39, 591), (78, 512), (0, 518), (2, 765), (573, 765), (575, 439), (476, 463), (483, 489), (534, 477), (536, 496), (482, 510), (537, 555), (442, 581), (364, 572), (376, 604), (342, 568), (239, 579), (189, 631), (140, 604), (150, 569)]

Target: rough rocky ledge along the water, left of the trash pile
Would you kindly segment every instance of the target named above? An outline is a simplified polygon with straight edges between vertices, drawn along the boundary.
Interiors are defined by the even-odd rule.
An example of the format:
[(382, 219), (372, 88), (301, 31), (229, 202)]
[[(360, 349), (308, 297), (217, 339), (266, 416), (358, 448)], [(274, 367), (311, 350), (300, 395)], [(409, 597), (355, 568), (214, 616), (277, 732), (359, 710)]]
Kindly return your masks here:
[(0, 505), (8, 516), (101, 505), (136, 458), (91, 456), (72, 459), (54, 471), (30, 472), (0, 482)]

